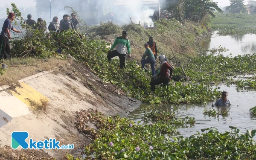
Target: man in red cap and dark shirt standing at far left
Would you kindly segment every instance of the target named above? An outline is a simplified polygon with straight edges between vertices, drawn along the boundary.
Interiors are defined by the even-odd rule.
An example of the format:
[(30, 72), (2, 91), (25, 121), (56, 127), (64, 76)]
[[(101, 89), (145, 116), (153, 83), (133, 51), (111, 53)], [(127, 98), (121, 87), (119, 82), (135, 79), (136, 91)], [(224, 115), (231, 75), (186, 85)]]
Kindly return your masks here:
[(12, 39), (11, 30), (20, 33), (20, 31), (12, 26), (12, 20), (14, 20), (14, 18), (15, 14), (10, 12), (3, 23), (2, 32), (0, 34), (0, 63), (3, 62), (4, 59), (10, 59), (11, 49), (9, 39)]

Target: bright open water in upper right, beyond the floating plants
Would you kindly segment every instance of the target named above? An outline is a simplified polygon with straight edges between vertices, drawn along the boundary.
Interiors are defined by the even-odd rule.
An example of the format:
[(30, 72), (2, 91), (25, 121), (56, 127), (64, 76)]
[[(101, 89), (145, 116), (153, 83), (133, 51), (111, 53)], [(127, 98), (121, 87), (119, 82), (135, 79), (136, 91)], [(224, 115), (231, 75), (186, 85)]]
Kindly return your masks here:
[[(229, 49), (227, 52), (221, 52), (224, 57), (230, 53), (232, 53), (232, 56), (256, 53), (256, 35), (219, 36), (217, 32), (214, 31), (212, 35), (202, 41), (201, 46), (204, 49), (218, 48), (221, 45), (221, 47)], [(208, 55), (209, 52), (205, 54)]]

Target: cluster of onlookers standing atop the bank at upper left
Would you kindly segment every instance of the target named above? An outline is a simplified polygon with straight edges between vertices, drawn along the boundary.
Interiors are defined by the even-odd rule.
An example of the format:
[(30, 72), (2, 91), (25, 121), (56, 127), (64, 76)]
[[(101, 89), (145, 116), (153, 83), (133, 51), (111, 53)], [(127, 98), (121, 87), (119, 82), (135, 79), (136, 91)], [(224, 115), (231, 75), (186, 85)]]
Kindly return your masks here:
[[(68, 29), (75, 29), (77, 30), (77, 24), (79, 24), (79, 20), (76, 18), (76, 14), (72, 13), (71, 14), (71, 19), (69, 19), (69, 15), (63, 15), (63, 19), (58, 22), (58, 17), (53, 17), (52, 22), (50, 22), (48, 29), (49, 31), (62, 31), (62, 30), (68, 30)], [(32, 20), (32, 15), (27, 16), (27, 20), (24, 22), (24, 24), (27, 24), (30, 26), (32, 29), (38, 29), (38, 30), (43, 30), (46, 32), (46, 27), (45, 24), (43, 23), (42, 18), (38, 18), (37, 23), (35, 20)]]

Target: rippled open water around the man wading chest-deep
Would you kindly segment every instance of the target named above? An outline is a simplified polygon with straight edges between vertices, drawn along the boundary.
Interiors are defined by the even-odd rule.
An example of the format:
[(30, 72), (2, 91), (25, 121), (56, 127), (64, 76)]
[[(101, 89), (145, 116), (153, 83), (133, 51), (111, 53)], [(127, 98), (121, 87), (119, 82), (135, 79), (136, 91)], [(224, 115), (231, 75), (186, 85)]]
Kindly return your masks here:
[[(235, 86), (228, 87), (222, 85), (219, 87), (221, 87), (219, 90), (227, 90), (229, 92), (227, 99), (232, 104), (230, 107), (219, 107), (219, 111), (228, 111), (230, 109), (228, 114), (224, 116), (212, 117), (203, 114), (204, 107), (207, 110), (212, 108), (211, 102), (207, 105), (155, 105), (155, 107), (159, 110), (175, 111), (177, 117), (195, 117), (195, 125), (187, 125), (185, 128), (178, 130), (177, 135), (183, 135), (184, 137), (189, 137), (192, 134), (196, 134), (196, 131), (201, 132), (201, 129), (210, 127), (218, 128), (218, 131), (223, 133), (230, 131), (230, 125), (237, 126), (242, 133), (245, 133), (246, 129), (256, 129), (256, 117), (252, 116), (249, 112), (250, 108), (256, 106), (256, 91), (249, 90), (248, 88), (237, 90)], [(129, 114), (128, 118), (131, 118), (134, 122), (141, 120), (139, 117), (144, 115), (142, 108), (147, 106), (147, 104), (143, 104), (140, 108)], [(217, 110), (217, 107), (213, 108)]]

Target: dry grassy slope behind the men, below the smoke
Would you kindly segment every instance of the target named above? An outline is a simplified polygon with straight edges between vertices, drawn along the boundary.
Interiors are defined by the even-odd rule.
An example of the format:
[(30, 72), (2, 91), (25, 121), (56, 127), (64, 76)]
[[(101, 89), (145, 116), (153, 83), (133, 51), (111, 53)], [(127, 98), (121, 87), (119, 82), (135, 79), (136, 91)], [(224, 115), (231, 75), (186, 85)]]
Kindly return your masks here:
[[(140, 60), (145, 52), (144, 43), (149, 40), (149, 36), (153, 36), (157, 44), (158, 55), (163, 54), (171, 59), (174, 57), (173, 50), (178, 59), (177, 61), (180, 61), (182, 64), (186, 64), (188, 58), (194, 57), (197, 54), (195, 51), (197, 46), (195, 44), (197, 43), (198, 37), (207, 33), (206, 27), (202, 28), (201, 24), (190, 21), (186, 21), (184, 25), (181, 25), (174, 19), (160, 19), (155, 21), (154, 26), (156, 27), (154, 29), (144, 29), (143, 26), (135, 23), (125, 24), (123, 26), (105, 23), (102, 26), (91, 27), (89, 32), (91, 36), (96, 36), (102, 35), (97, 34), (97, 30), (102, 28), (108, 29), (105, 33), (109, 34), (103, 35), (102, 39), (111, 43), (110, 40), (114, 41), (117, 36), (122, 35), (122, 30), (128, 31), (127, 38), (131, 45), (131, 55), (137, 60)], [(115, 30), (115, 32), (111, 30)]]

